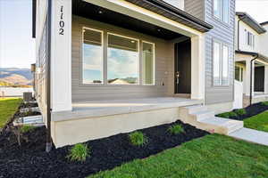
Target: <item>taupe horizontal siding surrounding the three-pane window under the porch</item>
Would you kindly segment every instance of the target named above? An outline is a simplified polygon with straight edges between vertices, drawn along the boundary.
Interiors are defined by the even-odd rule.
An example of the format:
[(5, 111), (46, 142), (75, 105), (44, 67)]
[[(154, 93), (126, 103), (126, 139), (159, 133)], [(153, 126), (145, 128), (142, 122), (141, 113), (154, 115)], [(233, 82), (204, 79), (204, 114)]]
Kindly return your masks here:
[[(155, 85), (83, 85), (82, 84), (82, 28), (96, 28), (122, 36), (130, 36), (155, 43)], [(172, 45), (159, 38), (95, 20), (72, 16), (71, 40), (72, 101), (97, 101), (126, 98), (167, 96), (173, 92)]]

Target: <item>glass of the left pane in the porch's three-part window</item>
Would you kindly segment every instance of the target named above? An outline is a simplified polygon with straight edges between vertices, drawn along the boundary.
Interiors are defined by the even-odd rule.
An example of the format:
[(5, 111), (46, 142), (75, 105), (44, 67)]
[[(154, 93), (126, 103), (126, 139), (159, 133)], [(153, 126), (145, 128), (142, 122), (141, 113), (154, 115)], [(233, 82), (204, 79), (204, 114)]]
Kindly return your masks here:
[(83, 28), (83, 83), (103, 83), (102, 32)]

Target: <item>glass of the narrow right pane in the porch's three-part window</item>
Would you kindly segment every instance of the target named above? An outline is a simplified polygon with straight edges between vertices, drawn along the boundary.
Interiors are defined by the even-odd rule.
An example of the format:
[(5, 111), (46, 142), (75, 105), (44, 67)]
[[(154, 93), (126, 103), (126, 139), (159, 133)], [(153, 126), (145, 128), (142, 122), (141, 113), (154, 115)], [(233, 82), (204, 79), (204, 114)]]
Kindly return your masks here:
[(142, 83), (154, 84), (154, 44), (142, 43)]

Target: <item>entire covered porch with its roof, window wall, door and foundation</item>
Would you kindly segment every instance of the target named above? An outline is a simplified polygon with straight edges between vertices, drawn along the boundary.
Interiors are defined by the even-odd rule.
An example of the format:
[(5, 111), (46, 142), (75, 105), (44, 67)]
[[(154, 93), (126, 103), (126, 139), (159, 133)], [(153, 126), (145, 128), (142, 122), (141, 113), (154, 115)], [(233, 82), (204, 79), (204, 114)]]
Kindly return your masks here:
[(180, 107), (204, 103), (204, 33), (213, 27), (152, 2), (72, 1), (70, 73), (53, 73), (56, 147), (172, 123)]

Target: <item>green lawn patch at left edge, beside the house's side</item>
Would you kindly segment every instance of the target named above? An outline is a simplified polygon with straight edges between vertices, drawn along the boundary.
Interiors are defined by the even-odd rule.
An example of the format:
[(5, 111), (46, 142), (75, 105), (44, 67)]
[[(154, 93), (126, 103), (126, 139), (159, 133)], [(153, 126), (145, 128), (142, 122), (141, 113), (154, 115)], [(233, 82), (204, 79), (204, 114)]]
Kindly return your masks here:
[(0, 129), (13, 117), (21, 103), (20, 98), (0, 98)]

